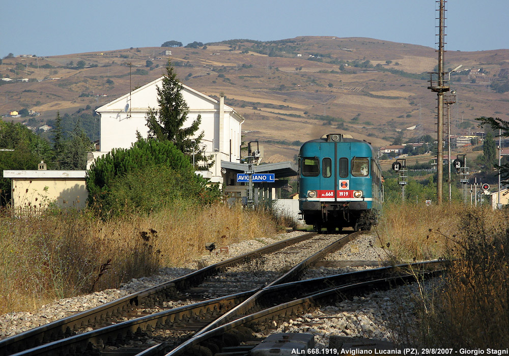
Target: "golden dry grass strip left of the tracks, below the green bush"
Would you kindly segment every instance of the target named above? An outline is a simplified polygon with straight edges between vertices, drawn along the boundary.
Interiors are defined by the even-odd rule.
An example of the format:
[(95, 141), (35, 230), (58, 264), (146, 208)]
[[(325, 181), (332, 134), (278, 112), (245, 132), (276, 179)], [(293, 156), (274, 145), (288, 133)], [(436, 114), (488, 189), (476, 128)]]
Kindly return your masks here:
[(161, 266), (186, 266), (218, 246), (276, 232), (265, 211), (175, 206), (151, 216), (100, 221), (88, 213), (0, 218), (0, 313), (118, 287)]

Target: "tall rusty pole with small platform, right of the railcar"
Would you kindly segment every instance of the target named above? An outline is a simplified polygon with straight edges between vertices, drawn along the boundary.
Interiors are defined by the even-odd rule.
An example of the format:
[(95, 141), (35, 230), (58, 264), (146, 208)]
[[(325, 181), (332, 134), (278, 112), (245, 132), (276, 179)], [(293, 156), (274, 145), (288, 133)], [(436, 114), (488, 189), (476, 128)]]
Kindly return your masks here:
[(430, 86), (432, 92), (437, 93), (438, 112), (437, 112), (437, 204), (442, 204), (443, 194), (443, 105), (444, 93), (449, 91), (449, 83), (445, 79), (444, 72), (444, 45), (445, 45), (445, 0), (437, 1), (439, 3), (439, 25), (438, 25), (438, 72), (432, 72)]

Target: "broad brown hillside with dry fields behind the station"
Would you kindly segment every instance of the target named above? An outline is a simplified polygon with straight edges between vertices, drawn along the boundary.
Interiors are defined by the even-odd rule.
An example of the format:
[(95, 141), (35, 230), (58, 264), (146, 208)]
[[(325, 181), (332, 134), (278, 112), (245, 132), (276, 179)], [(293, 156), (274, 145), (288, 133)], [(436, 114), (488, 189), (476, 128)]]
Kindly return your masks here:
[[(161, 76), (168, 59), (164, 50), (172, 51), (169, 58), (183, 83), (216, 98), (225, 93), (225, 103), (246, 118), (245, 140), (265, 142), (265, 161), (293, 159), (300, 142), (329, 132), (351, 133), (375, 145), (390, 143), (397, 130), (405, 138), (436, 135), (436, 94), (427, 88), (435, 50), (367, 38), (231, 40), (197, 49), (6, 58), (1, 77), (30, 80), (0, 81), (0, 114), (26, 107), (45, 122), (56, 110), (97, 108)], [(509, 50), (447, 52), (445, 58), (446, 68), (470, 69), (451, 76), (458, 100), (451, 112), (453, 133), (468, 130), (466, 123), (473, 129), (478, 116), (509, 120), (507, 93), (490, 88), (507, 80)], [(49, 78), (58, 79), (38, 81)], [(418, 124), (421, 130), (406, 130)]]

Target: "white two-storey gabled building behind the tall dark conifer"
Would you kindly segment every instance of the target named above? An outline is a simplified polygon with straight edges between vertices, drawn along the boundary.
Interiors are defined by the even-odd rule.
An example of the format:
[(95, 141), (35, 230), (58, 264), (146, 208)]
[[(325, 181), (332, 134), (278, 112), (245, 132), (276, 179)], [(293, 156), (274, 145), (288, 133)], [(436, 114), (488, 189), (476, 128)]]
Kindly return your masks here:
[[(159, 107), (156, 88), (162, 87), (163, 78), (160, 77), (96, 110), (101, 115), (101, 140), (100, 152), (94, 152), (94, 158), (114, 148), (129, 148), (131, 143), (136, 141), (136, 131), (147, 137), (149, 130), (145, 116), (149, 108)], [(189, 107), (188, 121), (184, 123), (184, 127), (190, 126), (201, 114), (202, 122), (196, 135), (204, 131), (201, 144), (206, 145), (205, 155), (214, 156), (214, 165), (201, 174), (211, 182), (223, 183), (221, 161), (240, 160), (244, 118), (230, 106), (224, 105), (222, 93), (217, 101), (182, 84), (182, 95)], [(88, 167), (91, 163), (89, 161)]]

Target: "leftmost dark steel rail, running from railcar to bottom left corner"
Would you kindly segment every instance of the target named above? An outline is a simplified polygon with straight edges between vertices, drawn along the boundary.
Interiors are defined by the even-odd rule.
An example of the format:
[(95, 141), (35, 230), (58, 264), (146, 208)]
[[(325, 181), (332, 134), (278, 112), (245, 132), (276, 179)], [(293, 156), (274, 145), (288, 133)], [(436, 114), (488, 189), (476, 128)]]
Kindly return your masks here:
[(157, 286), (132, 293), (116, 301), (55, 320), (48, 324), (41, 325), (40, 327), (0, 340), (0, 356), (8, 356), (10, 352), (18, 352), (58, 338), (71, 336), (80, 328), (95, 327), (97, 325), (106, 324), (112, 318), (114, 319), (118, 316), (126, 315), (128, 311), (133, 310), (136, 306), (145, 305), (147, 307), (152, 307), (161, 299), (165, 300), (171, 298), (172, 294), (176, 290), (182, 290), (191, 285), (199, 284), (205, 280), (205, 278), (217, 274), (230, 266), (242, 263), (247, 259), (256, 258), (258, 256), (280, 250), (289, 245), (308, 240), (315, 235), (317, 235), (316, 232), (307, 233), (269, 246), (264, 246), (240, 256), (232, 257), (206, 266), (201, 270), (191, 272), (185, 276)]

